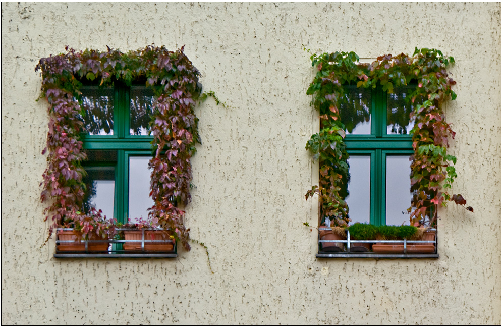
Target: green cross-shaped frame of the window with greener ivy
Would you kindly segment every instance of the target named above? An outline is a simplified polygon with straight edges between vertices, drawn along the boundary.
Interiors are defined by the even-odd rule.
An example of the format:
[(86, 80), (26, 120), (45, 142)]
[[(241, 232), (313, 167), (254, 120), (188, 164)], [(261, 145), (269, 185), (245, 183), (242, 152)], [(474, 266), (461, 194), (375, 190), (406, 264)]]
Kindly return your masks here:
[[(397, 92), (397, 89), (407, 92), (407, 90), (403, 88), (396, 88), (394, 92)], [(407, 89), (413, 90), (412, 88)], [(361, 90), (361, 88), (347, 86), (346, 90), (358, 91)], [(410, 134), (387, 133), (387, 92), (383, 92), (379, 88), (369, 90), (369, 92), (371, 98), (369, 106), (370, 134), (351, 134), (346, 131), (345, 143), (350, 161), (351, 156), (366, 155), (370, 157), (370, 214), (368, 218), (352, 218), (350, 206), (349, 216), (352, 218), (352, 224), (355, 222), (367, 222), (380, 226), (386, 224), (386, 158), (387, 156), (393, 155), (412, 155), (414, 151), (412, 148), (412, 136)], [(407, 131), (407, 133), (408, 132), (409, 131)], [(355, 173), (352, 173), (351, 165), (350, 174), (351, 180), (357, 179)], [(351, 196), (352, 192), (350, 192), (350, 197)], [(410, 203), (407, 207), (400, 208), (399, 210), (405, 211), (408, 207), (410, 207)]]

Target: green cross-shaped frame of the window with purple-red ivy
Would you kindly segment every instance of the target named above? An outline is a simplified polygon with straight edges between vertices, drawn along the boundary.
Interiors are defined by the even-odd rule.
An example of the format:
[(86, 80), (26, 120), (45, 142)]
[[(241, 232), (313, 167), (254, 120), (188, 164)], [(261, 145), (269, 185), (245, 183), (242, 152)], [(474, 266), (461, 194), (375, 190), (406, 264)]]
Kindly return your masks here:
[[(88, 153), (88, 161), (83, 162), (84, 169), (99, 170), (100, 168), (115, 170), (115, 186), (114, 186), (114, 218), (119, 223), (128, 223), (129, 215), (129, 163), (130, 158), (135, 156), (152, 157), (151, 141), (153, 136), (150, 135), (132, 135), (130, 134), (131, 125), (131, 90), (137, 88), (140, 92), (145, 92), (147, 96), (153, 97), (153, 91), (145, 86), (132, 85), (126, 86), (120, 82), (116, 82), (113, 87), (113, 133), (108, 135), (91, 135), (82, 136), (83, 148)], [(94, 90), (93, 90), (94, 89)], [(93, 90), (94, 94), (100, 96), (103, 94), (103, 89), (98, 86), (82, 86), (80, 91), (83, 97), (87, 91)], [(86, 120), (84, 120), (86, 122)], [(90, 153), (101, 153), (101, 156), (106, 157), (104, 160), (93, 159)], [(107, 156), (107, 154), (113, 154)], [(149, 180), (150, 183), (150, 180)], [(153, 204), (153, 201), (152, 201)], [(99, 208), (96, 208), (99, 209)], [(145, 213), (147, 208), (145, 208)], [(107, 215), (108, 217), (108, 215)], [(147, 217), (143, 216), (146, 220)]]

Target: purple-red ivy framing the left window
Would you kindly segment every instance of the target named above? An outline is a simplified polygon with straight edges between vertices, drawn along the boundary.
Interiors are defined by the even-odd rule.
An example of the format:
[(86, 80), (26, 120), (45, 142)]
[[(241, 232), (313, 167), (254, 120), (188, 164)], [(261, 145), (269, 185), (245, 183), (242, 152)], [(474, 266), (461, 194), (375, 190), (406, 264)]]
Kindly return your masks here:
[[(108, 48), (108, 47), (107, 47)], [(114, 220), (106, 220), (100, 211), (82, 212), (85, 198), (85, 171), (81, 162), (87, 158), (82, 148), (82, 81), (111, 86), (117, 81), (131, 85), (138, 79), (154, 90), (156, 101), (151, 117), (152, 148), (149, 162), (154, 205), (149, 209), (149, 224), (160, 227), (180, 240), (189, 250), (189, 229), (183, 223), (184, 212), (173, 199), (187, 204), (190, 199), (192, 169), (190, 159), (200, 143), (198, 119), (193, 107), (212, 92), (202, 94), (199, 72), (183, 53), (153, 45), (126, 53), (110, 49), (67, 52), (42, 58), (35, 68), (41, 71), (40, 98), (47, 100), (49, 131), (47, 169), (41, 185), (42, 202), (48, 201), (45, 220), (50, 220), (50, 238), (55, 228), (71, 227), (83, 234), (113, 236)]]

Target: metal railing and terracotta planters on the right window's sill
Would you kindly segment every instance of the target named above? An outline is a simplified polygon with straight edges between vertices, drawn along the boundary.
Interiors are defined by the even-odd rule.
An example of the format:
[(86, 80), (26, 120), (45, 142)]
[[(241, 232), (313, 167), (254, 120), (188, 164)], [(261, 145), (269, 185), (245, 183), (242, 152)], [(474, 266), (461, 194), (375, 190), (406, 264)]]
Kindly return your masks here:
[[(321, 232), (332, 229), (319, 227), (319, 230)], [(333, 236), (337, 236), (337, 233), (334, 232)], [(429, 230), (426, 239), (430, 240), (351, 240), (348, 230), (344, 239), (342, 237), (341, 239), (321, 239), (318, 234), (316, 257), (438, 258), (436, 230)]]

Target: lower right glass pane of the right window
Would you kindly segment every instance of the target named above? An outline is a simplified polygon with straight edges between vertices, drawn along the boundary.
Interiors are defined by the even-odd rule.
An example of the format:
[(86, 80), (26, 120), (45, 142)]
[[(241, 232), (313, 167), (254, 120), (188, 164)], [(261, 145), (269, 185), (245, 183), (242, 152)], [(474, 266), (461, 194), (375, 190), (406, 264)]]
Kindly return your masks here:
[(411, 206), (409, 155), (386, 156), (386, 225), (408, 225)]

